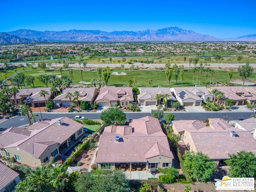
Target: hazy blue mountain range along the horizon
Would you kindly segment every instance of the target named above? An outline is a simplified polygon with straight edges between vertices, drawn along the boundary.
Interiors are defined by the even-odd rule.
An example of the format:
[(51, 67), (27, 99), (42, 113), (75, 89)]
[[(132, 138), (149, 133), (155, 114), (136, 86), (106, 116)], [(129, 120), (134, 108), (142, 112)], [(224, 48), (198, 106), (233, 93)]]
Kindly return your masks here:
[(159, 30), (113, 31), (68, 30), (34, 31), (19, 29), (0, 33), (0, 44), (27, 42), (138, 42), (138, 41), (255, 41), (256, 35), (220, 39), (191, 30), (169, 27)]

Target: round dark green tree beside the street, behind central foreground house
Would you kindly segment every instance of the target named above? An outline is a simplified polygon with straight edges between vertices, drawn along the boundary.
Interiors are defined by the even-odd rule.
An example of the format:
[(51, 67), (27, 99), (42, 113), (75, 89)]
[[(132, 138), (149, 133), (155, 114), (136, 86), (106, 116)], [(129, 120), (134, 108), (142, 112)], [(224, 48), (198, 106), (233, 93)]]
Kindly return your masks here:
[(102, 111), (100, 119), (104, 125), (123, 125), (126, 121), (126, 114), (119, 108), (109, 107)]

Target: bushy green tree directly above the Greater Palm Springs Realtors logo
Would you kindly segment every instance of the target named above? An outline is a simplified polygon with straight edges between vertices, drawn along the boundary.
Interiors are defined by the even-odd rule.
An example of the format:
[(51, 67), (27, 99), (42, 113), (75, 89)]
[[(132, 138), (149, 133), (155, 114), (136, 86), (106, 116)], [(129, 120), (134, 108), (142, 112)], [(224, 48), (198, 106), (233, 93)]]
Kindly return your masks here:
[(230, 177), (256, 177), (256, 157), (252, 152), (240, 151), (228, 156), (225, 163), (229, 166)]

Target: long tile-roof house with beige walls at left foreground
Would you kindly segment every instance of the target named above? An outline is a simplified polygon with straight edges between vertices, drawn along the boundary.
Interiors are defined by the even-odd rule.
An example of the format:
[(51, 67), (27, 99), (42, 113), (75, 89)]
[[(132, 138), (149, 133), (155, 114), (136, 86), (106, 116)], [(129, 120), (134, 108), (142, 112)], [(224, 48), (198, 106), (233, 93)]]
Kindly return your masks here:
[(0, 156), (29, 166), (40, 166), (50, 156), (56, 158), (60, 148), (68, 147), (84, 133), (83, 125), (62, 117), (41, 120), (27, 129), (12, 127), (0, 134)]

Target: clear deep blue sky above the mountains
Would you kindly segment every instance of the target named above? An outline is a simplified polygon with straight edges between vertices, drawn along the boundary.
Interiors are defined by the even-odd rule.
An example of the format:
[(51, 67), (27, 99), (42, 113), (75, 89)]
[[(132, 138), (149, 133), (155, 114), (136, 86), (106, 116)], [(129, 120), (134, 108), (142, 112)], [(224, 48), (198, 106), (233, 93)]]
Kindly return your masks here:
[(0, 0), (0, 6), (0, 32), (177, 26), (218, 38), (256, 34), (256, 0)]

